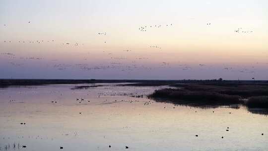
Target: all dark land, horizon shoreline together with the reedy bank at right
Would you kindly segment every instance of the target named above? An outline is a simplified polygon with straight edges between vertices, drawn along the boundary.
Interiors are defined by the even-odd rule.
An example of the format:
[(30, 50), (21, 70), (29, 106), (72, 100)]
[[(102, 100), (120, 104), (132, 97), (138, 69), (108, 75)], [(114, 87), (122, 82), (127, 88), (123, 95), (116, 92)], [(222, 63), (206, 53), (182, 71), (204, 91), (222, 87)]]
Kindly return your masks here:
[[(249, 108), (268, 108), (267, 80), (113, 80), (113, 79), (0, 79), (0, 87), (43, 84), (123, 83), (126, 86), (161, 86), (178, 88), (156, 90), (149, 95), (157, 100), (177, 104), (232, 105), (244, 104)], [(86, 89), (102, 85), (76, 86)], [(159, 99), (164, 98), (164, 99)]]

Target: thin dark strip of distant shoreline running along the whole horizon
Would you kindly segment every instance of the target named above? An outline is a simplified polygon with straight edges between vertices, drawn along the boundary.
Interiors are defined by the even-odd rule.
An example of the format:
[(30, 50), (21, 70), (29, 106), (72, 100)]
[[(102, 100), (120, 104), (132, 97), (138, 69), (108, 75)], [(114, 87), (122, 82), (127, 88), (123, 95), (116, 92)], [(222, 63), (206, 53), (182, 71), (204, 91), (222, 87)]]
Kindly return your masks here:
[[(201, 83), (201, 84), (268, 84), (267, 80), (142, 80), (142, 79), (0, 79), (0, 87), (12, 85), (43, 85), (43, 84), (81, 84), (81, 83), (146, 83), (144, 86), (176, 85), (176, 83)], [(123, 84), (124, 85), (124, 84)], [(125, 84), (126, 85), (126, 84)], [(134, 84), (133, 86), (142, 86)]]

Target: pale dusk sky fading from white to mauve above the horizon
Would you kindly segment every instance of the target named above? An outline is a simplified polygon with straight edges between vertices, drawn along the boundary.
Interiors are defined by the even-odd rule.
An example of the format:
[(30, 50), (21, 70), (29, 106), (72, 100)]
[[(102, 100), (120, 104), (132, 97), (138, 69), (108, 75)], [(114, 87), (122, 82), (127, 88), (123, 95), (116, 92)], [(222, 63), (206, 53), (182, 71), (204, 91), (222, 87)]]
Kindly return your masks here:
[(267, 0), (0, 0), (0, 78), (268, 79)]

